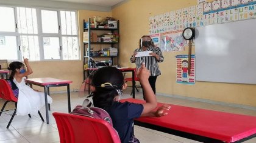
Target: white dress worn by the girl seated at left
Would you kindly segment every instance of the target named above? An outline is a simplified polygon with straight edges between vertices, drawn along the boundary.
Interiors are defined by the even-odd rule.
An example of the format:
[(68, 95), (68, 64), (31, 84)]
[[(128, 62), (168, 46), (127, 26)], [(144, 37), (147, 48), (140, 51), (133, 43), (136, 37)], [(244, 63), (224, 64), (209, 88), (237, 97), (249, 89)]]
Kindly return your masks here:
[[(16, 79), (13, 79), (13, 82), (19, 88), (19, 96), (17, 102), (17, 115), (27, 115), (34, 114), (36, 115), (38, 110), (45, 105), (44, 93), (38, 92), (30, 88), (25, 83), (25, 77), (22, 78), (21, 82), (17, 82)], [(52, 103), (52, 98), (47, 96), (48, 103)]]

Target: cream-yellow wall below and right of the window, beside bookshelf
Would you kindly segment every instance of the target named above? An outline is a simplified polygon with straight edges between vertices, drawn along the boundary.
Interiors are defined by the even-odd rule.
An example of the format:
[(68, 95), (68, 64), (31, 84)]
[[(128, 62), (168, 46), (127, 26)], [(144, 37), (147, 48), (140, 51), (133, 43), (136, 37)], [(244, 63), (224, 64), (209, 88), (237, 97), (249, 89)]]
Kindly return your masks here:
[[(30, 65), (34, 73), (29, 75), (29, 78), (41, 78), (41, 77), (50, 77), (50, 78), (59, 78), (73, 81), (70, 85), (70, 90), (76, 91), (80, 88), (84, 78), (83, 78), (83, 48), (84, 44), (82, 42), (82, 33), (84, 30), (83, 20), (91, 18), (93, 16), (112, 16), (111, 12), (99, 12), (92, 10), (78, 10), (78, 19), (79, 22), (79, 38), (80, 38), (80, 55), (81, 60), (74, 61), (32, 61)], [(43, 91), (43, 88), (34, 86), (37, 90)], [(66, 91), (66, 87), (54, 87), (50, 91)]]

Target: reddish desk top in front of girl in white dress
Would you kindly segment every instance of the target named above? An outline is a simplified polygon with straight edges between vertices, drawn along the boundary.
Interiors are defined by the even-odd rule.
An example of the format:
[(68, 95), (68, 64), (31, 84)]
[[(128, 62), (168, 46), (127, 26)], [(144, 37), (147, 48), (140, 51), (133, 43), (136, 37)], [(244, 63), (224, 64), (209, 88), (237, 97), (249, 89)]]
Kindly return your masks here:
[(53, 84), (70, 84), (72, 81), (55, 78), (29, 78), (25, 79), (29, 84), (40, 84), (40, 85), (53, 85)]

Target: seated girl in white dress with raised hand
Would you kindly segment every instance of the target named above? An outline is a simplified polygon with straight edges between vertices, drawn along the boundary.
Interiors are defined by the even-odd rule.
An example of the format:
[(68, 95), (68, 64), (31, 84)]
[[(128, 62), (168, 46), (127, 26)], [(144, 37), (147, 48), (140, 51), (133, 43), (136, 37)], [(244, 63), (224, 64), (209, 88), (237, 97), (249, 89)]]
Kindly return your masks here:
[[(27, 71), (24, 67), (27, 67)], [(16, 84), (19, 88), (18, 102), (17, 102), (17, 115), (37, 114), (37, 111), (45, 105), (44, 93), (38, 92), (30, 88), (25, 83), (26, 76), (33, 73), (32, 68), (29, 65), (29, 60), (24, 59), (22, 62), (11, 62), (9, 70), (11, 71), (10, 80)], [(52, 98), (48, 96), (48, 103), (52, 103)]]

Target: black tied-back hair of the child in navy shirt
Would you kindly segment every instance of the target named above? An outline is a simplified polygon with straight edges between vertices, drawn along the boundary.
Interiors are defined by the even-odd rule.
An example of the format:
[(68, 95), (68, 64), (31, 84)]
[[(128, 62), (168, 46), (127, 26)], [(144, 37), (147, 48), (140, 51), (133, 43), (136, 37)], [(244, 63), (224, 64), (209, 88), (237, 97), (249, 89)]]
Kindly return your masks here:
[(120, 94), (124, 76), (115, 67), (102, 67), (94, 73), (92, 84), (96, 89), (93, 92), (94, 106), (107, 110), (113, 104), (115, 96)]

